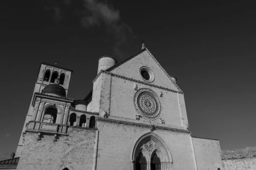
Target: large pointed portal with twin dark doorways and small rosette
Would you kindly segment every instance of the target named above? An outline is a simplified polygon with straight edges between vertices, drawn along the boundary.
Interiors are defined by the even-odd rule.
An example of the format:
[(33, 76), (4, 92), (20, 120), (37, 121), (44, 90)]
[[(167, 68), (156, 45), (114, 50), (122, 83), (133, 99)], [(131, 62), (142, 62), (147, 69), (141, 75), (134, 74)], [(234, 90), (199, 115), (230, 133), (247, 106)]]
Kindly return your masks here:
[(172, 170), (172, 156), (163, 139), (153, 132), (145, 133), (132, 151), (134, 170)]

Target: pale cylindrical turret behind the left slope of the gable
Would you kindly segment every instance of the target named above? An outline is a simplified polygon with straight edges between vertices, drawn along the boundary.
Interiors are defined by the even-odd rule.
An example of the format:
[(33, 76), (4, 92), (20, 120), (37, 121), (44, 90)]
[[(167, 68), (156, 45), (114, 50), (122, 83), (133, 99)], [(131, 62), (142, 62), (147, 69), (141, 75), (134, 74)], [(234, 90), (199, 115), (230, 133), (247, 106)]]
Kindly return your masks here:
[(98, 73), (101, 70), (107, 70), (108, 68), (112, 67), (113, 65), (115, 65), (117, 63), (117, 60), (112, 57), (112, 56), (102, 56), (99, 57), (98, 60)]

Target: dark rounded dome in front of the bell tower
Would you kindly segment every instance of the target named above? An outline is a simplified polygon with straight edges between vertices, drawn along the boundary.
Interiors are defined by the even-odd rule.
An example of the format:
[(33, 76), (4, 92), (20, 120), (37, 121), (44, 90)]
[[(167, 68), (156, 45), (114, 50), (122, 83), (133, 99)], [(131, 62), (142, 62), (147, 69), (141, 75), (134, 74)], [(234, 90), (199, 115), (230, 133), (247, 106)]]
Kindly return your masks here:
[(45, 86), (42, 90), (42, 94), (51, 94), (54, 96), (66, 97), (66, 90), (58, 84), (50, 84)]

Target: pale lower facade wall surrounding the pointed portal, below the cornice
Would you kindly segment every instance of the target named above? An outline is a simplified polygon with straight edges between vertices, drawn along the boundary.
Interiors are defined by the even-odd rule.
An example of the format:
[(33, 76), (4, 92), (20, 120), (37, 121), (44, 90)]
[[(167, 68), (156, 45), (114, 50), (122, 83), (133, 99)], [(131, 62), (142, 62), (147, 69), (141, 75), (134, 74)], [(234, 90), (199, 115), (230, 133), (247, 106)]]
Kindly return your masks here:
[[(106, 122), (99, 122), (98, 128), (97, 170), (133, 170), (133, 147), (150, 129)], [(190, 134), (164, 130), (154, 130), (153, 133), (169, 148), (173, 170), (196, 170)]]

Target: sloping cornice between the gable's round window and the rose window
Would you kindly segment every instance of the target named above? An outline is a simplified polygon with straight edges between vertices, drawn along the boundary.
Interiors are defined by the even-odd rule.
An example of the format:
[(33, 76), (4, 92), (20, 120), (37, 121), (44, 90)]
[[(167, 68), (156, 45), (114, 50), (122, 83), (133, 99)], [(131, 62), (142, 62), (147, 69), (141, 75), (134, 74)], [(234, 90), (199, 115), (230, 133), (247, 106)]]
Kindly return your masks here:
[[(113, 76), (113, 77), (119, 77), (119, 78), (121, 78), (121, 79), (126, 79), (126, 80), (129, 80), (129, 81), (132, 81), (132, 82), (137, 82), (137, 83), (140, 83), (140, 84), (143, 84), (143, 85), (148, 85), (148, 86), (151, 86), (151, 87), (154, 87), (154, 88), (159, 88), (159, 89), (162, 89), (162, 90), (172, 91), (172, 92), (174, 92), (174, 93), (183, 94), (183, 92), (180, 92), (180, 91), (175, 91), (175, 90), (172, 90), (172, 89), (169, 89), (169, 88), (164, 88), (164, 87), (161, 87), (161, 86), (158, 86), (158, 85), (153, 85), (153, 84), (150, 84), (150, 83), (148, 83), (148, 82), (142, 82), (142, 81), (140, 81), (140, 80), (135, 80), (135, 79), (131, 79), (131, 78), (128, 78), (128, 77), (120, 76), (120, 75), (113, 74), (113, 73), (108, 72), (108, 71), (103, 71), (103, 70), (102, 70), (102, 71), (98, 74), (98, 76), (99, 76), (100, 74), (102, 74), (102, 73), (111, 75), (111, 76)], [(96, 79), (98, 78), (98, 76), (96, 77)], [(96, 80), (96, 79), (95, 79), (95, 80)], [(94, 83), (95, 80), (93, 80), (93, 83)]]

